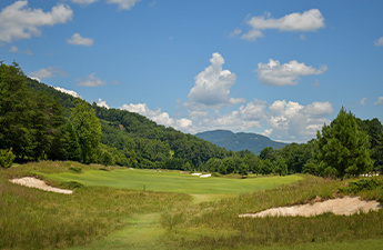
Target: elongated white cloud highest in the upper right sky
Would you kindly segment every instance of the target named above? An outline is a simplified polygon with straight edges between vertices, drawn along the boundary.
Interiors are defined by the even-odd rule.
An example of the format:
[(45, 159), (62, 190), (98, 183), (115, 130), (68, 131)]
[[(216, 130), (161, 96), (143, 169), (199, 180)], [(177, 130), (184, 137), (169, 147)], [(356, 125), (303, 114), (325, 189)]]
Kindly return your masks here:
[(291, 13), (280, 19), (265, 17), (252, 17), (248, 24), (252, 28), (248, 33), (242, 34), (242, 39), (255, 41), (263, 37), (262, 30), (276, 29), (280, 31), (315, 31), (324, 28), (324, 18), (318, 9), (311, 9), (303, 13)]

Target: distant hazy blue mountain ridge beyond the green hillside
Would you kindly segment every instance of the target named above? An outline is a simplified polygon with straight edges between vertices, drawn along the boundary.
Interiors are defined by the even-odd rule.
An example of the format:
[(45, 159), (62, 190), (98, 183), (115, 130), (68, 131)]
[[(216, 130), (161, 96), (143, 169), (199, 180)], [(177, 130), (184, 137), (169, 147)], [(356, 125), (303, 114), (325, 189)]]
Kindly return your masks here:
[(258, 133), (234, 133), (230, 130), (205, 131), (196, 133), (195, 137), (210, 141), (219, 147), (225, 148), (226, 150), (241, 151), (248, 149), (255, 154), (260, 154), (261, 150), (266, 147), (280, 149), (288, 144), (273, 141), (270, 138)]

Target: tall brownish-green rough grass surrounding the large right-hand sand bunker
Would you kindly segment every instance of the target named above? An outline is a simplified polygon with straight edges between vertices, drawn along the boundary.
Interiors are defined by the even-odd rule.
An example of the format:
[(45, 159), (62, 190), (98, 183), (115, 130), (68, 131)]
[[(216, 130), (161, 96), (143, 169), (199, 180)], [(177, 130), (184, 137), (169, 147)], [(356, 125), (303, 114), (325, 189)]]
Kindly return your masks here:
[[(354, 216), (325, 213), (312, 218), (239, 218), (245, 212), (309, 202), (341, 196), (346, 182), (306, 177), (273, 190), (240, 194), (221, 201), (201, 203), (183, 211), (163, 213), (169, 239), (185, 249), (231, 249), (264, 246), (296, 246), (310, 242), (340, 242), (382, 239), (383, 211)], [(202, 233), (201, 233), (202, 232)], [(193, 237), (198, 234), (199, 237)]]

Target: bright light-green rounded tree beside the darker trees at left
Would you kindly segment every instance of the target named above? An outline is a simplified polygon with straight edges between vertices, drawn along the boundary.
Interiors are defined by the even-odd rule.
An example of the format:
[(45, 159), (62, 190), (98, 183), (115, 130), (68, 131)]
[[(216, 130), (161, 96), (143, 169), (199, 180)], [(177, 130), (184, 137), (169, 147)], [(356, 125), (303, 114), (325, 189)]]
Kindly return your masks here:
[(79, 102), (72, 109), (71, 121), (81, 149), (81, 161), (90, 163), (101, 139), (101, 123), (94, 109), (85, 102)]

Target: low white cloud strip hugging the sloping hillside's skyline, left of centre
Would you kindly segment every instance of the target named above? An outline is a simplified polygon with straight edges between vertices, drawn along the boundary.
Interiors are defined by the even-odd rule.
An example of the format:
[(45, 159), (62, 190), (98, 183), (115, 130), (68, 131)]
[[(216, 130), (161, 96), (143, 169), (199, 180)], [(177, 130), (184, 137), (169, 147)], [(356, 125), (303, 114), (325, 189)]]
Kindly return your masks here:
[(192, 121), (185, 118), (182, 119), (173, 119), (170, 118), (169, 113), (162, 112), (161, 109), (158, 110), (151, 110), (147, 106), (147, 103), (138, 103), (138, 104), (123, 104), (120, 109), (128, 110), (130, 112), (140, 113), (141, 116), (144, 116), (149, 118), (150, 120), (163, 124), (167, 127), (173, 127), (175, 129), (188, 131), (189, 128), (192, 126)]

